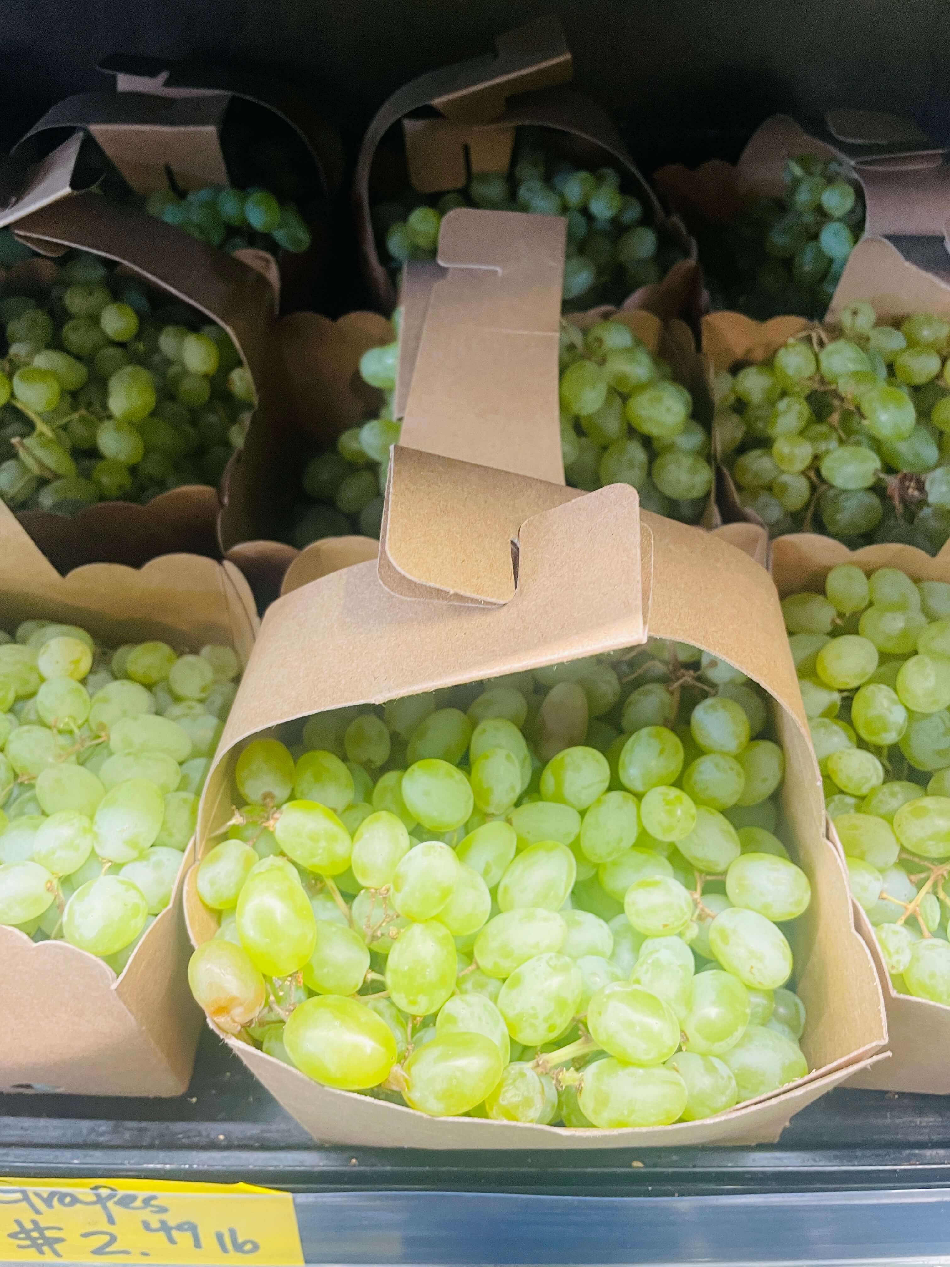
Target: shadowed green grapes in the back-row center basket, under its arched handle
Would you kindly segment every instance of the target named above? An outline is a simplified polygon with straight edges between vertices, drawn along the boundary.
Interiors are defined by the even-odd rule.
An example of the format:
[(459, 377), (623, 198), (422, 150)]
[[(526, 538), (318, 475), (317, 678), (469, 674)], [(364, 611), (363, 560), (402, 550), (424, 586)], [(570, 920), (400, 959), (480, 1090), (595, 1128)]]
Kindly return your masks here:
[(538, 141), (519, 147), (510, 176), (476, 172), (464, 191), (443, 194), (431, 205), (409, 190), (399, 203), (381, 203), (372, 219), (391, 270), (407, 260), (434, 260), (442, 217), (457, 207), (497, 212), (564, 215), (567, 258), (564, 266), (565, 312), (595, 304), (621, 304), (640, 286), (661, 281), (684, 258), (683, 248), (662, 229), (643, 223), (643, 204), (621, 193), (614, 167), (584, 171), (546, 156)]

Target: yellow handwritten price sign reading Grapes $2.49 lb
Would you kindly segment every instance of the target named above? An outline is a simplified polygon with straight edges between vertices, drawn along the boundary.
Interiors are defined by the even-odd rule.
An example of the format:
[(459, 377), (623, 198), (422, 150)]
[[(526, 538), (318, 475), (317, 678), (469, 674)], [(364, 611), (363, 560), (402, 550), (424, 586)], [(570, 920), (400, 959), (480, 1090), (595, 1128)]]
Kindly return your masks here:
[(303, 1267), (294, 1199), (250, 1183), (0, 1178), (0, 1263)]

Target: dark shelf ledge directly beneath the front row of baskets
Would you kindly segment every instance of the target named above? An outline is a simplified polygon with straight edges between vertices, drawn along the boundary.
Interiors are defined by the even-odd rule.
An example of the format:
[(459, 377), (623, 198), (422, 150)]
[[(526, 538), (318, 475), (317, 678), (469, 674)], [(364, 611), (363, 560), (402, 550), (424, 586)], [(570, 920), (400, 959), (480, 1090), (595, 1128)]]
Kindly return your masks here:
[(294, 1192), (723, 1196), (950, 1187), (950, 1098), (832, 1091), (776, 1144), (422, 1152), (315, 1144), (209, 1033), (187, 1095), (0, 1096), (0, 1175), (253, 1182)]

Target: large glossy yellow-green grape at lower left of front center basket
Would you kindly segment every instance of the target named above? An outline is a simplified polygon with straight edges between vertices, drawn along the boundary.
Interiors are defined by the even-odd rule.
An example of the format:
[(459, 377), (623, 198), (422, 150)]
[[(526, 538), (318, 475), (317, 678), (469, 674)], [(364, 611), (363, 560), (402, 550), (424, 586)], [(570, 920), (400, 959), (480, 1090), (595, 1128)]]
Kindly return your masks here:
[(386, 1022), (356, 998), (308, 998), (290, 1014), (284, 1045), (294, 1066), (314, 1082), (364, 1091), (389, 1077), (396, 1043)]

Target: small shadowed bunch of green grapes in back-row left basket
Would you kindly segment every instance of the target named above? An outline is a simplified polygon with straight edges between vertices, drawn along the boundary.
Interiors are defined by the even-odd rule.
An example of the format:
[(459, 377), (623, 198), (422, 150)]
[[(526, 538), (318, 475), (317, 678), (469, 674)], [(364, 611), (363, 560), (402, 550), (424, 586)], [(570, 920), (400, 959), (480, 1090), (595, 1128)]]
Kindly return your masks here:
[(199, 242), (233, 253), (247, 247), (300, 255), (310, 246), (310, 231), (295, 203), (281, 204), (266, 189), (222, 189), (205, 185), (179, 198), (170, 189), (144, 200), (144, 209)]

